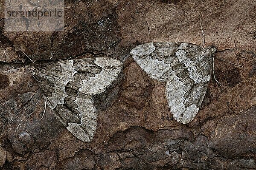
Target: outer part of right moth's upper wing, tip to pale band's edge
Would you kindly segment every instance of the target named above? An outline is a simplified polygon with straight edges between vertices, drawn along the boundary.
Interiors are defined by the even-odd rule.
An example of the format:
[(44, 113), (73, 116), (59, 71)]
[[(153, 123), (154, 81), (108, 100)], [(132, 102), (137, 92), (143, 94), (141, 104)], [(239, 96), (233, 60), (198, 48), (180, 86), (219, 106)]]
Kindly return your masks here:
[[(179, 64), (178, 58), (175, 56), (179, 45), (180, 42), (149, 42), (133, 48), (131, 55), (149, 77), (166, 82), (172, 74), (175, 74), (175, 71), (178, 71), (173, 71), (172, 67)], [(185, 69), (182, 65), (177, 66), (179, 71)]]

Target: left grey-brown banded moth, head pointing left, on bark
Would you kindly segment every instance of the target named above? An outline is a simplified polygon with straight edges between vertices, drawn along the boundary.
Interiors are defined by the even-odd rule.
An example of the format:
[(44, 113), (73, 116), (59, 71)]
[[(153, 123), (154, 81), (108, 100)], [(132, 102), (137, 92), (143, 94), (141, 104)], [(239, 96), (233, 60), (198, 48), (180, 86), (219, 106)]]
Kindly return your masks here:
[(76, 138), (90, 142), (97, 126), (93, 97), (118, 78), (122, 66), (108, 57), (71, 59), (37, 69), (33, 76), (55, 117)]

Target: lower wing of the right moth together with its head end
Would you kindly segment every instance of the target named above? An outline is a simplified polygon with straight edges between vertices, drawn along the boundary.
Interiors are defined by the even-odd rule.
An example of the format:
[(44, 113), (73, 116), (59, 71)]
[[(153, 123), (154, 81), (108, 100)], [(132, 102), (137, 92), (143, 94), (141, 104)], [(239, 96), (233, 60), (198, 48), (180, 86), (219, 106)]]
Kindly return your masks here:
[(191, 44), (179, 48), (176, 56), (186, 67), (166, 83), (166, 97), (173, 117), (189, 123), (198, 113), (212, 73), (215, 48), (195, 48)]

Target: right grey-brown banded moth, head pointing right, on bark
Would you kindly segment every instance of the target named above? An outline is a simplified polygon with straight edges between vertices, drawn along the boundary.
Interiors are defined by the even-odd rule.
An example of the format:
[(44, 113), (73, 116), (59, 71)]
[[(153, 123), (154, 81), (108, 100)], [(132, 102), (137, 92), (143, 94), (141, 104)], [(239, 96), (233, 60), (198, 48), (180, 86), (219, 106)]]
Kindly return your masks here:
[(150, 42), (131, 50), (149, 77), (166, 82), (166, 98), (177, 122), (191, 122), (204, 99), (216, 48), (187, 42)]

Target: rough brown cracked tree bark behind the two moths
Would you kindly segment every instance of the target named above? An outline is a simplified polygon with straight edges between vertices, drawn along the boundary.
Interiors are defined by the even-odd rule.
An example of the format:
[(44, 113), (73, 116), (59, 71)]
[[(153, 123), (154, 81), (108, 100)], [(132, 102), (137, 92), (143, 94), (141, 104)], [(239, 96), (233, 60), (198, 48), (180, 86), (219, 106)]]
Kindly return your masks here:
[[(67, 0), (65, 31), (5, 32), (1, 19), (0, 169), (255, 170), (255, 10), (254, 0)], [(202, 44), (199, 18), (206, 45), (218, 48), (221, 86), (212, 79), (195, 119), (182, 125), (169, 112), (165, 84), (129, 51), (152, 41)], [(76, 139), (49, 108), (41, 119), (44, 99), (25, 54), (44, 63), (96, 54), (124, 62), (112, 103), (98, 108), (93, 142)]]

